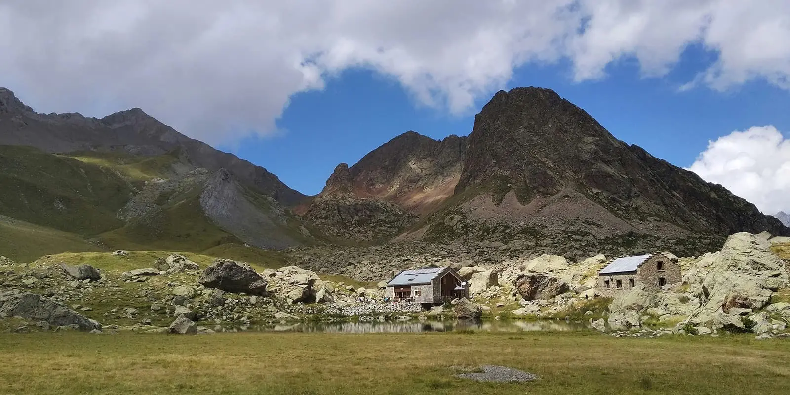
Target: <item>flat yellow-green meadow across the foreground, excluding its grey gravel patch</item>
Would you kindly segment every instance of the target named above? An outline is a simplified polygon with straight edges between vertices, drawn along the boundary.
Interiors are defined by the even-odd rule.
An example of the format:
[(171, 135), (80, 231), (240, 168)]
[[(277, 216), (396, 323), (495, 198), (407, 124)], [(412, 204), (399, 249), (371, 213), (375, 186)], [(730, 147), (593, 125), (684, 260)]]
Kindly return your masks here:
[[(0, 393), (790, 393), (790, 342), (592, 333), (0, 334)], [(452, 365), (539, 374), (467, 382)]]

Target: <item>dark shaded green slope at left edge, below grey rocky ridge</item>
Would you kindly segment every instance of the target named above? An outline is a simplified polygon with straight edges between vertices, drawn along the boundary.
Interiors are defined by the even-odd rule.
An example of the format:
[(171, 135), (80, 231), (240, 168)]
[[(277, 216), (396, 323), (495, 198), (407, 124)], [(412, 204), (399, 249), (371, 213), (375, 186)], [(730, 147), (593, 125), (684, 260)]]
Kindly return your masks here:
[(21, 146), (0, 146), (0, 215), (92, 235), (122, 226), (132, 186), (115, 171)]

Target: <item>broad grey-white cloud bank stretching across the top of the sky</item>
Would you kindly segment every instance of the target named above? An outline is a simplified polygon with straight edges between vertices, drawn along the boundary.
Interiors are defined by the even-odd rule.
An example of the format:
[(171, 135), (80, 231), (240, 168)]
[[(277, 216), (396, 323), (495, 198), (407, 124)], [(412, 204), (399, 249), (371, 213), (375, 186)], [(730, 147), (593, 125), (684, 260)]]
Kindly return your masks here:
[(790, 88), (784, 0), (0, 3), (0, 85), (40, 111), (143, 107), (209, 142), (271, 133), (294, 93), (350, 67), (461, 113), (525, 63), (568, 59), (585, 81), (636, 58), (661, 76), (691, 44), (718, 56), (687, 88)]

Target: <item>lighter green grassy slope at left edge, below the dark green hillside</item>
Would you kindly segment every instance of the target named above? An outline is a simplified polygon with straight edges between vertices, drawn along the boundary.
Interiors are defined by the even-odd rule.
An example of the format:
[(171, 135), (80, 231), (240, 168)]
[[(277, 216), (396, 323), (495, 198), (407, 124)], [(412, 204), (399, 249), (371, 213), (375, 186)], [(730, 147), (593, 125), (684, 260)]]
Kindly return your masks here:
[(0, 216), (0, 255), (28, 262), (62, 251), (100, 251), (79, 235)]

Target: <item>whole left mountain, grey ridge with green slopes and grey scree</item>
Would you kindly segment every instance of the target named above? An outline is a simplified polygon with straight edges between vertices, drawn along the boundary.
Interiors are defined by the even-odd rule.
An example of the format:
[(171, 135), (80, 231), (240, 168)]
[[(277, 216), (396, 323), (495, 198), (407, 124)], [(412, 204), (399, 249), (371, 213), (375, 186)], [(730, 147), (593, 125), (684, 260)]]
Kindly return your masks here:
[(0, 183), (9, 186), (0, 194), (0, 215), (107, 246), (315, 242), (288, 210), (305, 195), (138, 108), (103, 119), (44, 115), (0, 88), (0, 162)]

